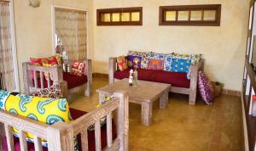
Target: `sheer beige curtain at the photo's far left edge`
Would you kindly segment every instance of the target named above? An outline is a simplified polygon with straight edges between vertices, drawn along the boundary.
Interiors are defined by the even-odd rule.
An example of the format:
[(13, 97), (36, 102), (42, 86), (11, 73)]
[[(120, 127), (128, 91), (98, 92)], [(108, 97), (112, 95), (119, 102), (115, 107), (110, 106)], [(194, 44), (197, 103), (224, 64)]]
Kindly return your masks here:
[(15, 72), (9, 2), (0, 2), (0, 84), (2, 89), (15, 90)]

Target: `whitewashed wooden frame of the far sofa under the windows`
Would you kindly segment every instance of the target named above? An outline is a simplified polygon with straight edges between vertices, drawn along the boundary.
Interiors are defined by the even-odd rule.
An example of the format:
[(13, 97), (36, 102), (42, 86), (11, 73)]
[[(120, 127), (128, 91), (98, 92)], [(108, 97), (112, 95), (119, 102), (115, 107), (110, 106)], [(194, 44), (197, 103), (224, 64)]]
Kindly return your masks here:
[[(204, 69), (205, 59), (201, 59), (199, 63), (191, 65), (191, 76), (190, 76), (190, 87), (171, 87), (170, 92), (182, 93), (189, 95), (189, 104), (195, 105), (196, 101), (196, 92), (197, 92), (197, 79), (199, 70)], [(119, 81), (113, 77), (114, 72), (118, 70), (117, 58), (109, 58), (109, 75), (108, 80), (109, 84), (114, 81)]]

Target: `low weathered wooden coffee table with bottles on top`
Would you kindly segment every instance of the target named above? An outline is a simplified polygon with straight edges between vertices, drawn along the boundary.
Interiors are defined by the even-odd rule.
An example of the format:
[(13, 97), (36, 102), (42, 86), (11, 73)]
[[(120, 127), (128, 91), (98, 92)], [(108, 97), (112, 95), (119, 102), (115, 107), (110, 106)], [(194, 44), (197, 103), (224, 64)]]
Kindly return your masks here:
[(116, 91), (126, 91), (130, 103), (142, 104), (142, 124), (149, 126), (151, 123), (153, 102), (160, 98), (160, 109), (166, 109), (170, 84), (152, 81), (137, 81), (137, 87), (129, 87), (128, 79), (116, 81), (106, 87), (96, 90), (100, 95), (100, 102), (105, 96)]

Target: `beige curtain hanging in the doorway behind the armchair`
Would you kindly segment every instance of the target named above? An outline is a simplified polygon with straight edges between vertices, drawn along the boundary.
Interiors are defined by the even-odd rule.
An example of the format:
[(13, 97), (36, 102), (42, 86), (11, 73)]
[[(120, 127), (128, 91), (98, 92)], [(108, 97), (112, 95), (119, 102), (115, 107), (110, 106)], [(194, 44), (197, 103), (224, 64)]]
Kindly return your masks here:
[(55, 33), (60, 37), (68, 59), (86, 59), (86, 12), (55, 8)]

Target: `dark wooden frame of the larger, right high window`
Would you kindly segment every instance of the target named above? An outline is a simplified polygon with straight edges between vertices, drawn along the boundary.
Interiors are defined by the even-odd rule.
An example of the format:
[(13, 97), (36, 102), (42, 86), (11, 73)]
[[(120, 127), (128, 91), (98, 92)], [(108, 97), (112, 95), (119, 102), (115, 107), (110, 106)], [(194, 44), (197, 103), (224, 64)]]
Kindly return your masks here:
[[(201, 20), (190, 20), (191, 11), (199, 10), (202, 12)], [(215, 10), (215, 20), (203, 20), (205, 10)], [(176, 20), (166, 20), (166, 11), (176, 11)], [(189, 11), (189, 20), (177, 20), (178, 11)], [(220, 26), (221, 4), (210, 5), (176, 5), (160, 6), (159, 25), (198, 25), (198, 26)]]

